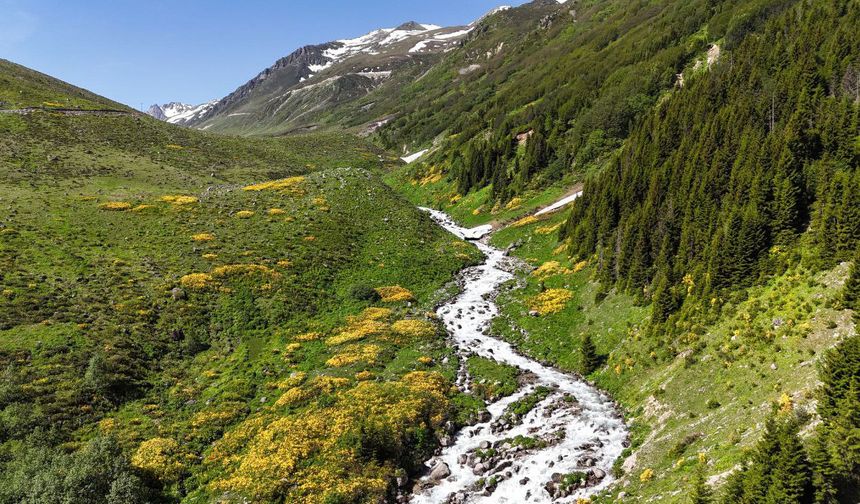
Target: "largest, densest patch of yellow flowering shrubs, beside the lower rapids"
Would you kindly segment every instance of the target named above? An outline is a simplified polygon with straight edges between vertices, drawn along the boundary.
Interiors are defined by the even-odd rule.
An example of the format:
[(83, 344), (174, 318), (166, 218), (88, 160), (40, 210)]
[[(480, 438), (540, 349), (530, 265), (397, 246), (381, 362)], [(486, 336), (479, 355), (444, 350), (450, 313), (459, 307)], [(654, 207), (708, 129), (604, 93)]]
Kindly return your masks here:
[(382, 502), (395, 468), (362, 459), (362, 445), (374, 442), (368, 428), (392, 443), (405, 443), (426, 419), (438, 428), (446, 420), (448, 388), (435, 373), (410, 373), (399, 382), (360, 381), (337, 390), (333, 404), (311, 405), (300, 415), (263, 412), (214, 443), (206, 463), (222, 476), (210, 490), (253, 501)]

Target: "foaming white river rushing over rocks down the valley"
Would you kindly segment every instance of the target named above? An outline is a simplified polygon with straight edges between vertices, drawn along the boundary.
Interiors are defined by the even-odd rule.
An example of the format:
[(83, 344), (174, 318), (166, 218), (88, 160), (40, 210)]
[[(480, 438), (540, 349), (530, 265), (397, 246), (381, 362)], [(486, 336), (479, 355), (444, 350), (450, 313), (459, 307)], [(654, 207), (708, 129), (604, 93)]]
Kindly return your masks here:
[[(613, 481), (613, 462), (621, 455), (628, 438), (627, 426), (614, 402), (581, 378), (525, 357), (489, 334), (490, 321), (498, 314), (495, 292), (513, 278), (506, 269), (510, 267), (510, 259), (504, 251), (487, 243), (486, 235), (491, 231), (488, 226), (465, 229), (442, 212), (423, 210), (446, 230), (471, 240), (486, 255), (484, 264), (462, 272), (462, 293), (437, 310), (460, 354), (474, 353), (515, 366), (531, 373), (534, 380), (515, 394), (490, 404), (489, 421), (461, 430), (450, 446), (428, 461), (431, 468), (446, 464), (450, 474), (439, 478), (439, 472), (431, 471), (436, 477), (423, 478), (411, 502), (569, 503), (606, 488)], [(468, 381), (461, 370), (458, 385), (466, 390)], [(540, 386), (549, 387), (552, 392), (522, 417), (522, 423), (502, 420), (511, 403)], [(548, 446), (525, 449), (504, 442), (517, 435), (546, 440)], [(487, 455), (486, 451), (476, 454), (475, 450), (481, 447), (494, 448), (496, 454)], [(568, 485), (566, 491), (559, 491), (559, 485), (552, 483), (547, 488), (553, 479), (559, 482), (563, 475), (574, 472), (587, 474), (588, 483)]]

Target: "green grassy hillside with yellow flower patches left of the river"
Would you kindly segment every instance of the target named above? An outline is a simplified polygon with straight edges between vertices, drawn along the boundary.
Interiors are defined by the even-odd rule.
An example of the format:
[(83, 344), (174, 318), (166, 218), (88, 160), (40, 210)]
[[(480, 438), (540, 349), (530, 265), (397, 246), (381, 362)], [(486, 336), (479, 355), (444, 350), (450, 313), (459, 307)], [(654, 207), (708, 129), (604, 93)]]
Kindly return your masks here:
[[(28, 98), (14, 103), (103, 106), (46, 79), (22, 85)], [(139, 470), (175, 499), (208, 502), (223, 489), (217, 481), (238, 491), (231, 495), (263, 500), (287, 492), (355, 497), (349, 485), (283, 488), (278, 482), (298, 473), (219, 465), (212, 451), (225, 434), (250, 432), (260, 420), (331, 418), (368, 397), (384, 407), (318, 433), (320, 442), (343, 437), (339, 446), (357, 458), (333, 460), (321, 450), (299, 460), (317, 472), (346, 470), (341, 479), (354, 477), (367, 491), (360, 499), (387, 492), (397, 466), (409, 468), (409, 457), (428, 445), (408, 445), (402, 459), (368, 459), (350, 448), (364, 443), (356, 422), (405, 422), (401, 435), (411, 439), (453, 414), (435, 375), (401, 378), (413, 371), (453, 377), (456, 358), (426, 312), (477, 252), (385, 186), (376, 175), (385, 161), (344, 135), (248, 140), (148, 118), (0, 115), (0, 500), (38, 491), (22, 468), (53, 470), (28, 466), (38, 461), (23, 441), (40, 426), (59, 428), (66, 450), (110, 435), (131, 455), (159, 440), (144, 446), (168, 446), (154, 459), (161, 467), (138, 463)], [(295, 191), (243, 190), (289, 176), (303, 176)], [(195, 199), (162, 199), (171, 195)], [(195, 241), (204, 234), (211, 237)], [(241, 266), (219, 270), (231, 265)], [(186, 277), (195, 273), (211, 277)], [(193, 278), (205, 286), (195, 288)], [(414, 301), (354, 294), (356, 286), (392, 285)], [(369, 306), (392, 311), (357, 346), (327, 341), (361, 325), (351, 317)], [(308, 332), (320, 336), (299, 337)], [(452, 358), (442, 365), (445, 356)], [(307, 381), (292, 386), (312, 397), (277, 402), (299, 371)], [(344, 380), (320, 390), (318, 376)], [(359, 385), (368, 378), (376, 380)], [(442, 417), (423, 423), (409, 413), (429, 403)], [(223, 442), (216, 451), (231, 460), (255, 456), (249, 444)], [(264, 488), (243, 486), (247, 480)]]

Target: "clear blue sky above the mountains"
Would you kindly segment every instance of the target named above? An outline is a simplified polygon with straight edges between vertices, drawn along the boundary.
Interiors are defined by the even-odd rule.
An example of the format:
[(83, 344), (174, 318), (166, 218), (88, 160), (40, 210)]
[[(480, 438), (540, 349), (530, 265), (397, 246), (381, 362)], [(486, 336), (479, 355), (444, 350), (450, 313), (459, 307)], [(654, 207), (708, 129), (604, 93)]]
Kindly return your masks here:
[(0, 0), (0, 58), (133, 107), (221, 98), (312, 43), (505, 0)]

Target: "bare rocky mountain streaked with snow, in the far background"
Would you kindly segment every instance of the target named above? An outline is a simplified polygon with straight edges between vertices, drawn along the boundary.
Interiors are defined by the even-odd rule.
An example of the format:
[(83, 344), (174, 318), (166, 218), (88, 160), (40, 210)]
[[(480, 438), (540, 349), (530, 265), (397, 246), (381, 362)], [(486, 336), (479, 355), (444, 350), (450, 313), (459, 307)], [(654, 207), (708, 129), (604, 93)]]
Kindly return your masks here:
[(391, 82), (418, 78), (459, 47), (474, 26), (410, 21), (365, 35), (310, 45), (276, 61), (187, 124), (201, 129), (314, 128), (333, 108)]

